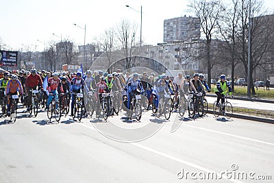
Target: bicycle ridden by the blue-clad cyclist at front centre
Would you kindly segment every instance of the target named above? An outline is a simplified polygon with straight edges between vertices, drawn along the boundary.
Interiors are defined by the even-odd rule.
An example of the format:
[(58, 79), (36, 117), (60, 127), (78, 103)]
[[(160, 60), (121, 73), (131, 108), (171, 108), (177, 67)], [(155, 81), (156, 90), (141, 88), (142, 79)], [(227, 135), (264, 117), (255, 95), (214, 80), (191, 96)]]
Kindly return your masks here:
[(132, 101), (129, 103), (129, 110), (127, 110), (127, 117), (132, 119), (133, 114), (135, 114), (135, 118), (137, 121), (140, 121), (142, 117), (142, 97), (140, 95), (136, 95), (133, 93)]

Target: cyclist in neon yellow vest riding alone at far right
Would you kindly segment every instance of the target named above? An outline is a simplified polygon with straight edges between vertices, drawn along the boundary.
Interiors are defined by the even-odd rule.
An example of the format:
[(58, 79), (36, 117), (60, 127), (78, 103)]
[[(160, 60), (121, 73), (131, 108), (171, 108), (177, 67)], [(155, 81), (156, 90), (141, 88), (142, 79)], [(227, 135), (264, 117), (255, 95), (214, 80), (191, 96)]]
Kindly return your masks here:
[(214, 92), (217, 95), (217, 104), (216, 106), (220, 105), (220, 99), (221, 99), (221, 103), (223, 106), (222, 110), (225, 110), (225, 105), (223, 105), (223, 103), (225, 103), (225, 93), (227, 93), (227, 88), (229, 91), (229, 95), (232, 95), (232, 88), (230, 86), (230, 82), (227, 82), (225, 75), (221, 75), (220, 76), (220, 80), (217, 82), (216, 87), (214, 89)]

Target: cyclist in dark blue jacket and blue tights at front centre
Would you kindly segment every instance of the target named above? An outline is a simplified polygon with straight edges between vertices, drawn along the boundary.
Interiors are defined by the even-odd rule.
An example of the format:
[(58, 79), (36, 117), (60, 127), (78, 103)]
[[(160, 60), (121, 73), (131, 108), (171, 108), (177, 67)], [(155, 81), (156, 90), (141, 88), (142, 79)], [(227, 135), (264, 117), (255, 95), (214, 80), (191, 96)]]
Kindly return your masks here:
[(142, 82), (138, 78), (138, 73), (134, 73), (133, 77), (128, 79), (127, 82), (127, 108), (129, 109), (130, 102), (132, 102), (132, 97), (134, 94), (144, 93), (144, 88), (142, 88)]

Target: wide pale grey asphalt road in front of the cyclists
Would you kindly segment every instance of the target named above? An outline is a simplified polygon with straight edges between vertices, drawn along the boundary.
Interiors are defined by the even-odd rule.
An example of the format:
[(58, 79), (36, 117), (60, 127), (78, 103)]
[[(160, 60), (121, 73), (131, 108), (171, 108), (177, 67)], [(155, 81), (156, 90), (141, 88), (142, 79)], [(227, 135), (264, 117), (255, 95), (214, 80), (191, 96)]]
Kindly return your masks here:
[[(261, 182), (258, 175), (274, 181), (274, 125), (211, 114), (124, 117), (47, 123), (40, 112), (19, 113), (14, 124), (0, 119), (0, 182)], [(207, 173), (214, 180), (201, 180)]]

